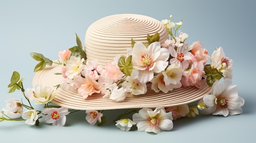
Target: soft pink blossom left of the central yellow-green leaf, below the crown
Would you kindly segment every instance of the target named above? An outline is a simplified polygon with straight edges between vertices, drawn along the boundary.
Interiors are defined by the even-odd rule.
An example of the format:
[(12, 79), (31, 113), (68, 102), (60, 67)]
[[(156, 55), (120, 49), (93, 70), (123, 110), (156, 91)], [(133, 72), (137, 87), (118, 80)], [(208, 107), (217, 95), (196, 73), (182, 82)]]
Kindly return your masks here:
[(121, 72), (119, 66), (114, 61), (111, 61), (108, 64), (106, 64), (105, 69), (106, 70), (102, 72), (102, 76), (105, 78), (111, 78), (115, 82), (117, 82), (123, 76), (123, 73)]

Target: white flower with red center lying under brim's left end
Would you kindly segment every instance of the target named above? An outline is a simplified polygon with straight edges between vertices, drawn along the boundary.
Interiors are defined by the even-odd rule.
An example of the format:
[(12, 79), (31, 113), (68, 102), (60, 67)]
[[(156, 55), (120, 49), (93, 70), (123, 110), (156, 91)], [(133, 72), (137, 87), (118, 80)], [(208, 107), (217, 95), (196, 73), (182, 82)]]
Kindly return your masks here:
[(45, 114), (45, 123), (52, 123), (52, 125), (65, 125), (66, 116), (70, 112), (67, 108), (45, 108), (42, 114)]

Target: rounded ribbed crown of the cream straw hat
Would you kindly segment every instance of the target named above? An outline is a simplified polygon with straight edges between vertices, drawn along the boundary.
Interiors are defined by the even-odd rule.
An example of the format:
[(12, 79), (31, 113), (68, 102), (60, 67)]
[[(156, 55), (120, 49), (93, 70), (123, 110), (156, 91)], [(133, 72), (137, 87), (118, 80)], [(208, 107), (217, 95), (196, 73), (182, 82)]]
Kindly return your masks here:
[(88, 60), (97, 59), (99, 65), (106, 65), (119, 55), (126, 55), (135, 42), (148, 42), (147, 35), (159, 33), (159, 42), (168, 39), (162, 22), (145, 15), (118, 14), (101, 18), (92, 23), (85, 35), (85, 53)]

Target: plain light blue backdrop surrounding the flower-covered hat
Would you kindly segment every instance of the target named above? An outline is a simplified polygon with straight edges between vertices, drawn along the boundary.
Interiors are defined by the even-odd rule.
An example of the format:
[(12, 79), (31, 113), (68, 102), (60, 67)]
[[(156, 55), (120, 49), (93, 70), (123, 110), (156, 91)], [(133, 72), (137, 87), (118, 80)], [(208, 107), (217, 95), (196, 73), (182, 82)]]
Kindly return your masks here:
[[(254, 0), (17, 0), (0, 1), (1, 86), (0, 108), (7, 97), (20, 99), (20, 91), (7, 93), (13, 71), (25, 78), (25, 88), (32, 87), (34, 66), (29, 55), (42, 53), (58, 59), (58, 51), (76, 45), (75, 33), (82, 44), (88, 26), (108, 15), (135, 13), (157, 20), (183, 18), (181, 30), (189, 35), (186, 42), (200, 41), (211, 54), (222, 46), (226, 56), (234, 60), (233, 84), (245, 99), (243, 114), (229, 117), (204, 116), (173, 121), (171, 131), (157, 135), (132, 130), (121, 131), (112, 122), (123, 110), (104, 111), (108, 122), (99, 127), (85, 121), (85, 112), (67, 116), (65, 126), (44, 123), (40, 126), (24, 122), (0, 123), (1, 142), (254, 142), (256, 117), (255, 87), (255, 6)], [(37, 106), (36, 106), (37, 107)], [(40, 106), (38, 106), (40, 108)]]

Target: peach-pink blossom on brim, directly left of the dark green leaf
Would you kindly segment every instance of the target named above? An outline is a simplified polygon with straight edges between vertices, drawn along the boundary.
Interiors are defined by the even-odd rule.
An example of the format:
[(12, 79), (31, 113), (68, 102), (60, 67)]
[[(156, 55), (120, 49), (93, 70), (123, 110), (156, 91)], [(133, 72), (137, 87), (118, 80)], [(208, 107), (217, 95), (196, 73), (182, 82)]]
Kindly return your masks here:
[(183, 86), (196, 86), (201, 88), (202, 77), (205, 77), (204, 65), (202, 62), (194, 62), (189, 71), (183, 72), (184, 77), (181, 79)]

